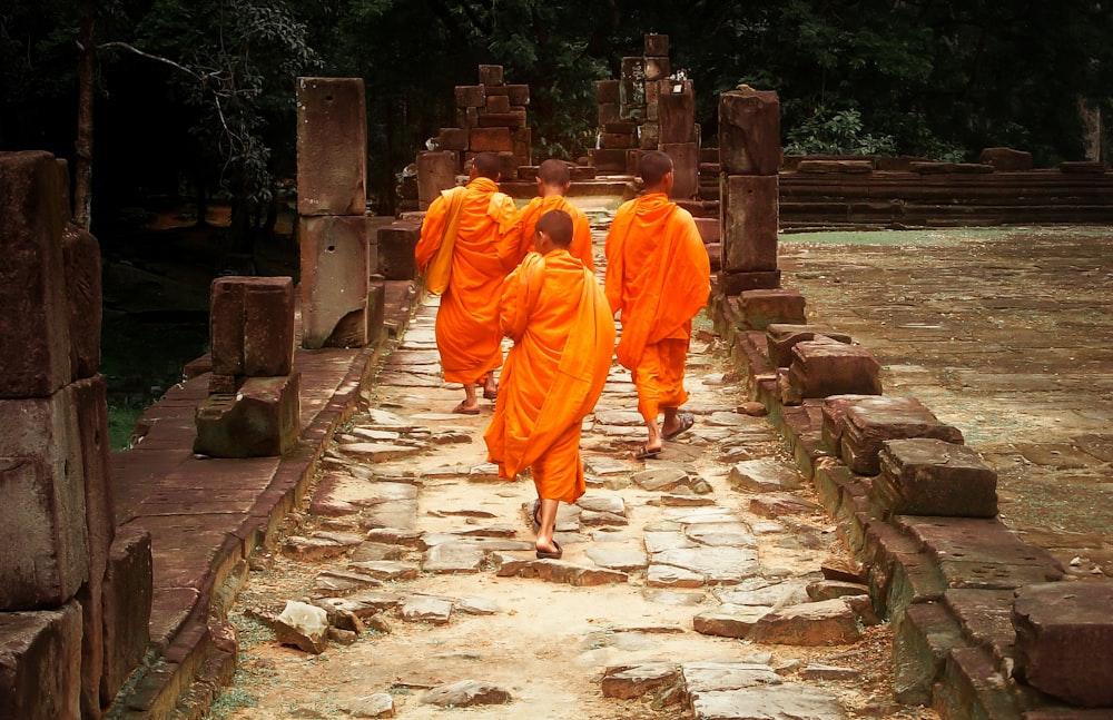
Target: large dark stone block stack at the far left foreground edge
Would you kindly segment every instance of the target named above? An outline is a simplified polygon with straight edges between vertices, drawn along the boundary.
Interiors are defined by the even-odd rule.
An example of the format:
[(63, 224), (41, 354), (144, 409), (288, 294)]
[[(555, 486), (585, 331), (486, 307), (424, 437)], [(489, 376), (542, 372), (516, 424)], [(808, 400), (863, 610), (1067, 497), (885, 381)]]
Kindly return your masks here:
[(150, 536), (117, 532), (100, 249), (47, 152), (0, 154), (0, 719), (99, 718), (142, 660)]

